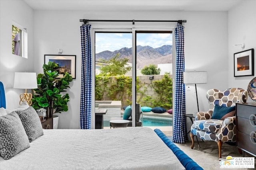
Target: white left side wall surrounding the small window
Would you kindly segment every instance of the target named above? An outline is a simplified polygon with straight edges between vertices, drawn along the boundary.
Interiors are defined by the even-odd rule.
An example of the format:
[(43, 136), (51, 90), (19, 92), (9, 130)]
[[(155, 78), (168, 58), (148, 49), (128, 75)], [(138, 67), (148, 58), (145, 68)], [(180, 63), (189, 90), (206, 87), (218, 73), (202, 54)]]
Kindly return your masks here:
[[(28, 59), (12, 54), (12, 22), (27, 28)], [(34, 72), (34, 22), (33, 10), (20, 0), (0, 1), (0, 81), (6, 92), (6, 107), (14, 108), (19, 105), (20, 93), (24, 89), (14, 89), (14, 72)]]

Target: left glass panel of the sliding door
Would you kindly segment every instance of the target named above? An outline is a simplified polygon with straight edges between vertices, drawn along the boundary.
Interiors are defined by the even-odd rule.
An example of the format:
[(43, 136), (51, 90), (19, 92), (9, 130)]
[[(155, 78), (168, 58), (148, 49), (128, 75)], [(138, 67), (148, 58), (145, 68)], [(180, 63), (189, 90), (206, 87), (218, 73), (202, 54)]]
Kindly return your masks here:
[[(103, 127), (132, 105), (132, 33), (95, 32), (95, 108), (107, 110)], [(99, 113), (97, 113), (99, 114)]]

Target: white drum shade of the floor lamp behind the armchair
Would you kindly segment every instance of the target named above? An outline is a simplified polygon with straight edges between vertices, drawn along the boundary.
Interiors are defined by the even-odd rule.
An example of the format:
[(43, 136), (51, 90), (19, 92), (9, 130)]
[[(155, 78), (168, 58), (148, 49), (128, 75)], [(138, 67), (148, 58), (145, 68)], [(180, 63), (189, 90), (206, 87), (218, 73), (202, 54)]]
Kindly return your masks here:
[(184, 84), (202, 84), (207, 83), (206, 71), (183, 72)]

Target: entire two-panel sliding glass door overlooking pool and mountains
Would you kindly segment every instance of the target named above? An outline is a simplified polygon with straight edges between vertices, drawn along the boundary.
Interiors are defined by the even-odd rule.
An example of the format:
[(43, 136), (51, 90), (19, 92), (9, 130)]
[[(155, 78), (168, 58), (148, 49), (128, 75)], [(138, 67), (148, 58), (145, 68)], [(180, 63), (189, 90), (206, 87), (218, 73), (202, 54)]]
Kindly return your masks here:
[(172, 31), (94, 29), (93, 36), (92, 108), (107, 110), (103, 128), (110, 128), (110, 119), (123, 119), (127, 106), (136, 117), (133, 104), (137, 103), (142, 117), (129, 125), (165, 128), (170, 135), (172, 115), (146, 112), (145, 108), (172, 109)]

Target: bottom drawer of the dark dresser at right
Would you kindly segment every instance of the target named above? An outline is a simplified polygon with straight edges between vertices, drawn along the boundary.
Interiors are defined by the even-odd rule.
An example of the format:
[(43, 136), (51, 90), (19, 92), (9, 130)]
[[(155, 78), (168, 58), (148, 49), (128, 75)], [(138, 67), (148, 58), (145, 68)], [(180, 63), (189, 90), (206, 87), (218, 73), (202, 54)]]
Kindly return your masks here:
[[(256, 156), (256, 139), (250, 140), (250, 136), (241, 132), (236, 133), (236, 146)], [(254, 143), (252, 143), (254, 142)]]

